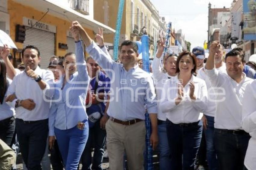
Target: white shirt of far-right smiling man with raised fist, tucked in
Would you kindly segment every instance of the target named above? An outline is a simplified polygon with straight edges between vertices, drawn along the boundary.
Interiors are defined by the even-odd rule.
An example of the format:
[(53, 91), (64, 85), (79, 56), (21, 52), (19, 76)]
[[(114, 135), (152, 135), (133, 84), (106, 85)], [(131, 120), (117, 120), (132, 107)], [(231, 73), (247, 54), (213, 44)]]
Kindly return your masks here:
[(243, 79), (237, 83), (228, 74), (217, 69), (206, 70), (212, 87), (219, 87), (216, 93), (217, 109), (214, 127), (217, 129), (242, 129), (242, 102), (245, 87), (252, 81), (243, 73)]

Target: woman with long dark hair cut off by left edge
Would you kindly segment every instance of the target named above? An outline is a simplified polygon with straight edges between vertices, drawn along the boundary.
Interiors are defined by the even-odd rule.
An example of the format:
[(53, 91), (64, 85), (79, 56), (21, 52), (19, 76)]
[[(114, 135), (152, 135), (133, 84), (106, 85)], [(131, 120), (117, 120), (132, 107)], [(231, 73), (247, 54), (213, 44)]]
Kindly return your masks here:
[(0, 139), (11, 147), (14, 134), (14, 108), (6, 104), (6, 92), (11, 80), (6, 77), (6, 65), (0, 58)]

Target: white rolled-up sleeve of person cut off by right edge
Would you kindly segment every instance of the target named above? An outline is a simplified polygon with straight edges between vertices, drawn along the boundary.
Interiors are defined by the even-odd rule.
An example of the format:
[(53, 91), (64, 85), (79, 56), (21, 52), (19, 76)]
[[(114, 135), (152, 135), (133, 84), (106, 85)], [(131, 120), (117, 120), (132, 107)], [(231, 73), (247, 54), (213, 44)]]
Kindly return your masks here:
[(251, 84), (248, 84), (242, 105), (242, 128), (248, 132), (256, 131), (256, 80)]

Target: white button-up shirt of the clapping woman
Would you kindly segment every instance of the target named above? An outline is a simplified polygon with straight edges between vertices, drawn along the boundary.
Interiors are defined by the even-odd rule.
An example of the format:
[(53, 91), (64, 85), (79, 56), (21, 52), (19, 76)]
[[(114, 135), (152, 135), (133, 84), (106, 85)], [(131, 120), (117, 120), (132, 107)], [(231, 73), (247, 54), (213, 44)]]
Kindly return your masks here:
[(194, 102), (189, 97), (190, 86), (186, 84), (183, 90), (183, 99), (176, 105), (175, 98), (178, 96), (178, 76), (175, 80), (169, 79), (164, 84), (165, 93), (162, 93), (164, 101), (161, 102), (160, 108), (163, 113), (167, 114), (167, 119), (173, 123), (193, 123), (201, 120), (202, 113), (206, 108), (207, 103), (207, 87), (204, 80), (192, 75), (189, 81), (195, 83), (195, 97)]

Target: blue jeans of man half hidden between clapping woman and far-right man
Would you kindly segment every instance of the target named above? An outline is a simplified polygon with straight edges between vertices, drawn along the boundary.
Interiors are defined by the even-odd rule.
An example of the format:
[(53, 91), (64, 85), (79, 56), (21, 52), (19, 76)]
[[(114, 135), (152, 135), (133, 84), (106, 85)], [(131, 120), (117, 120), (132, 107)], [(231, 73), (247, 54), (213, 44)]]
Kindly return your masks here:
[(216, 151), (214, 149), (214, 117), (205, 115), (207, 119), (207, 129), (204, 129), (206, 139), (206, 157), (209, 170), (217, 170), (218, 162)]

